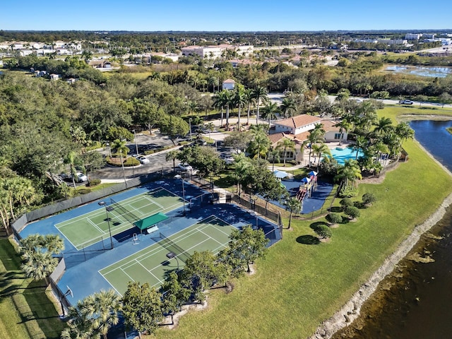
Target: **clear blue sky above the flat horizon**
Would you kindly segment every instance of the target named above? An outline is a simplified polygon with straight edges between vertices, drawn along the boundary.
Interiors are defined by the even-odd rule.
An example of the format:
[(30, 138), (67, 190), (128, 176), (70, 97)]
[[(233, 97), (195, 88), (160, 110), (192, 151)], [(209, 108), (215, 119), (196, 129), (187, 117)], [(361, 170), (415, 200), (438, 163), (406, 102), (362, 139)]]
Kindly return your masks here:
[(450, 0), (2, 2), (0, 30), (452, 30)]

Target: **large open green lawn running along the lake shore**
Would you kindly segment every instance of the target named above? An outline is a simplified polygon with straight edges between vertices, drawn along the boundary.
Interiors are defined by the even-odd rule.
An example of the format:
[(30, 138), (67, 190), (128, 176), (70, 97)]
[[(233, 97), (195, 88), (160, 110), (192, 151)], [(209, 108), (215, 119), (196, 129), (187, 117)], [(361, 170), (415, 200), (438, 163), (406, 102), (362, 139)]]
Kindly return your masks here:
[[(438, 111), (388, 107), (379, 116), (395, 119), (406, 110)], [(324, 219), (292, 220), (294, 230), (286, 230), (283, 241), (257, 262), (256, 274), (237, 281), (229, 295), (210, 292), (208, 309), (189, 312), (176, 330), (160, 328), (155, 338), (307, 338), (314, 333), (452, 191), (452, 177), (416, 141), (406, 141), (404, 148), (408, 162), (388, 172), (381, 184), (359, 185), (354, 200), (371, 192), (378, 201), (362, 209), (357, 222), (333, 229), (328, 243), (311, 244), (311, 225)]]

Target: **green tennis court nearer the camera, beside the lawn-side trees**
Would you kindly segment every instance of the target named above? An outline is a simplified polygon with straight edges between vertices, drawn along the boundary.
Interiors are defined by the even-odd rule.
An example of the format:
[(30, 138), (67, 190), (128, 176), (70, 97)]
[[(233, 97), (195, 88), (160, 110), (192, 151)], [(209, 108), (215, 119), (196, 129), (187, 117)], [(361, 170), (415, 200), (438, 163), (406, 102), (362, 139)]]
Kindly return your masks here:
[[(167, 239), (160, 239), (157, 243), (102, 268), (99, 273), (120, 295), (126, 292), (129, 281), (159, 287), (165, 279), (165, 272), (177, 269), (178, 266), (184, 267), (184, 261), (194, 251), (210, 250), (216, 254), (225, 248), (232, 230), (235, 230), (234, 226), (212, 215), (172, 234)], [(168, 259), (169, 252), (176, 254), (177, 259)]]

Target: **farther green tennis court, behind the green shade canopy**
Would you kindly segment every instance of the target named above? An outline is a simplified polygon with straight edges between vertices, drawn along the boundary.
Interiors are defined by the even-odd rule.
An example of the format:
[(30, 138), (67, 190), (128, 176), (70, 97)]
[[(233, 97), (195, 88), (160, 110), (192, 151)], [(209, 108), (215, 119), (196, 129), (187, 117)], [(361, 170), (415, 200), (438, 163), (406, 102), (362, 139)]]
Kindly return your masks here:
[[(115, 208), (115, 204), (112, 204), (111, 206), (114, 209), (108, 213), (112, 235), (119, 234), (134, 227), (132, 222), (154, 215), (155, 213), (168, 213), (171, 210), (175, 210), (181, 207), (184, 201), (170, 191), (159, 188), (148, 193), (133, 196), (119, 203), (121, 208)], [(130, 213), (124, 213), (121, 209), (125, 209), (127, 212), (135, 215), (137, 220), (131, 220)], [(109, 237), (107, 211), (105, 208), (100, 208), (76, 218), (60, 222), (55, 227), (78, 250)]]

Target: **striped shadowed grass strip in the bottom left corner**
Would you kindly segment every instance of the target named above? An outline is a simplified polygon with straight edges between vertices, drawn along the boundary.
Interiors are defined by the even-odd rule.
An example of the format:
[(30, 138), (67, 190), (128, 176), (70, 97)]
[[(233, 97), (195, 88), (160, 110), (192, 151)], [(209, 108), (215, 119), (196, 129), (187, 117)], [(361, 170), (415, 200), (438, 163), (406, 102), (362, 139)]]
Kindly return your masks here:
[(0, 277), (0, 338), (59, 338), (64, 323), (49, 292), (42, 281), (25, 279), (20, 257), (6, 238), (0, 239)]

